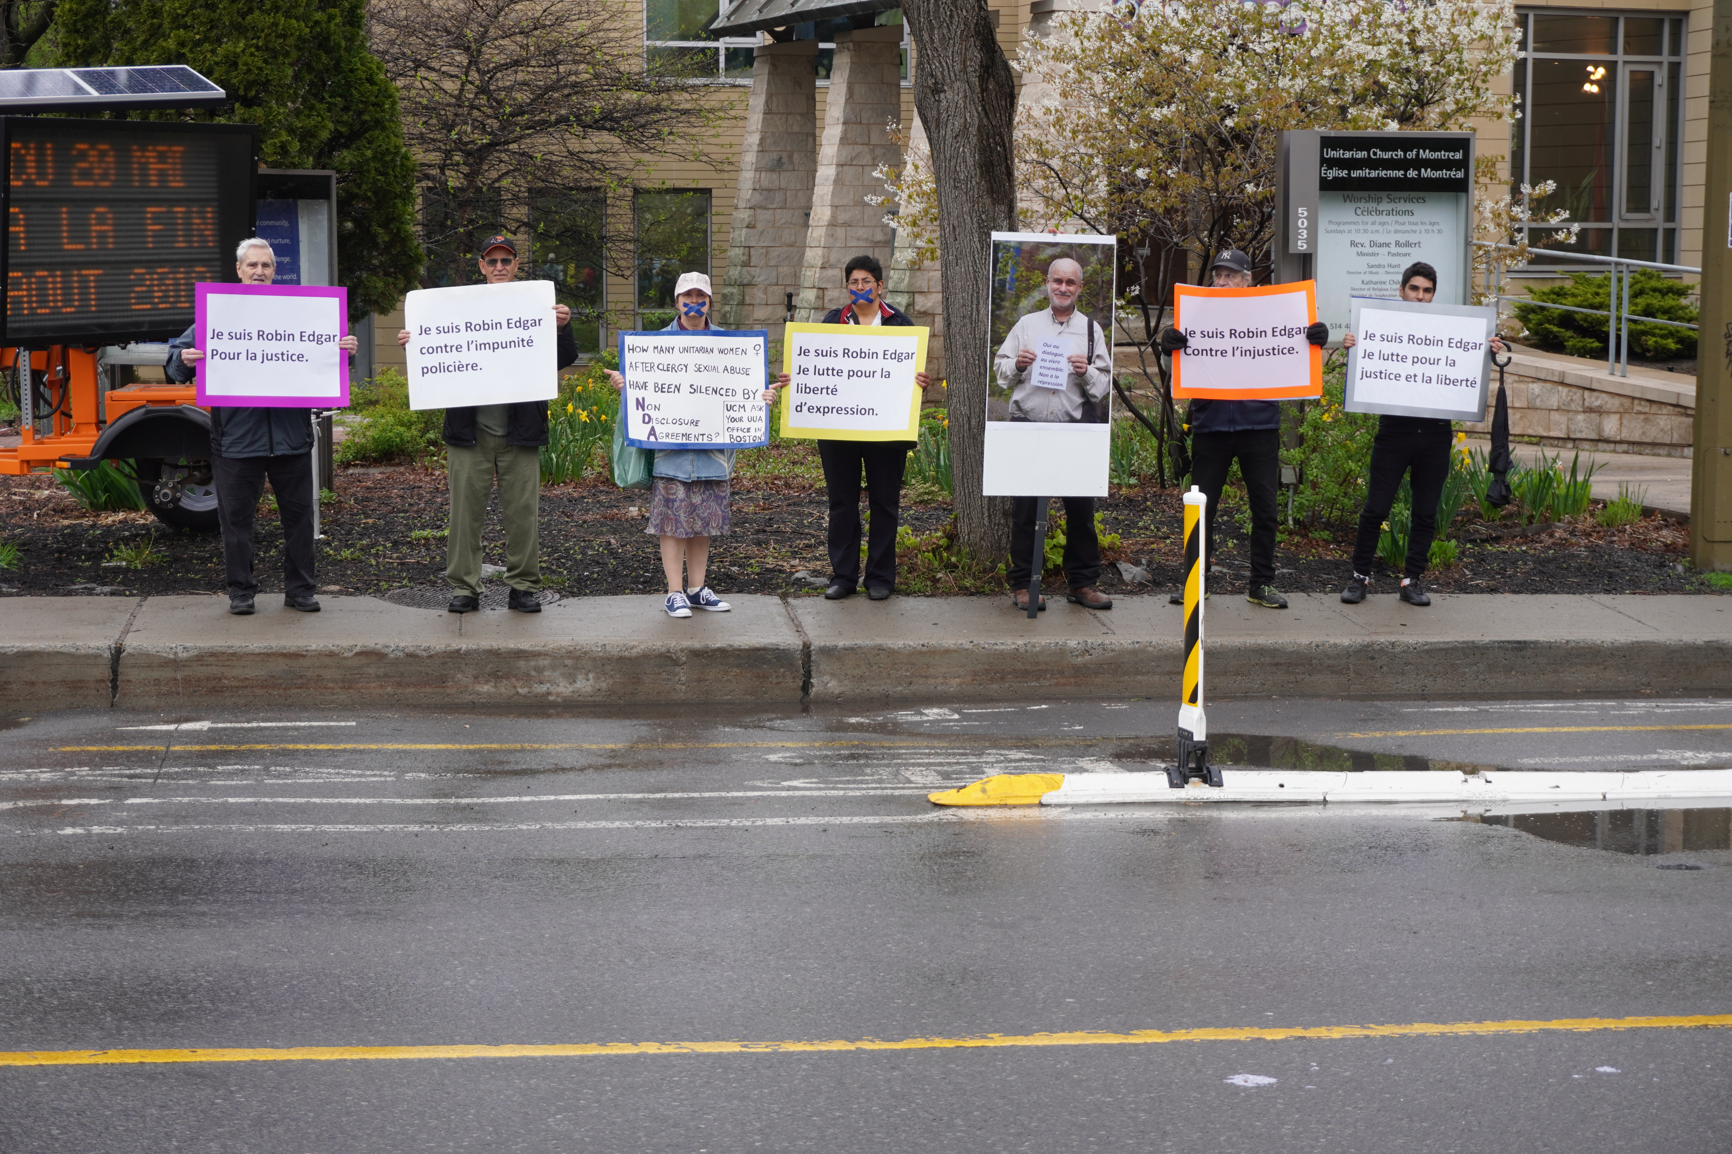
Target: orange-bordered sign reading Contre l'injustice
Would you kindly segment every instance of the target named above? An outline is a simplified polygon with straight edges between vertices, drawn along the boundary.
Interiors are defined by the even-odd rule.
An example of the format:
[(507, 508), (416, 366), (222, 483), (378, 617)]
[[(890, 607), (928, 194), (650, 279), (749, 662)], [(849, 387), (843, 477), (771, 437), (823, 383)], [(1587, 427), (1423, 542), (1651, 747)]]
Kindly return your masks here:
[(1304, 339), (1316, 320), (1316, 282), (1261, 289), (1173, 287), (1173, 396), (1285, 401), (1323, 394), (1323, 349)]

